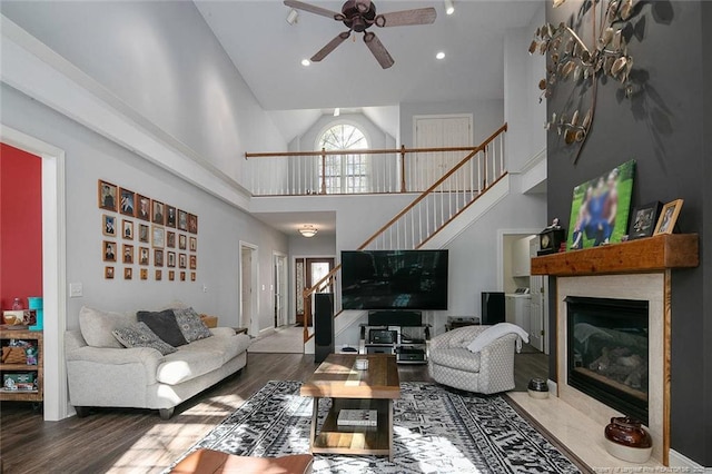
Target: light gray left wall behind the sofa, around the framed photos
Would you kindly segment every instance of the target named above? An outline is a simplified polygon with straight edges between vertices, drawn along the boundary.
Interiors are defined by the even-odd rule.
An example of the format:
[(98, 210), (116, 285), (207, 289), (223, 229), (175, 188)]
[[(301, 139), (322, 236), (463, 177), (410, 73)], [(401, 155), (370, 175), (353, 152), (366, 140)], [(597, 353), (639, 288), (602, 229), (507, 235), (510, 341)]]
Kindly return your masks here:
[[(254, 217), (214, 198), (122, 147), (89, 131), (27, 96), (2, 85), (0, 121), (66, 151), (67, 282), (81, 283), (83, 297), (69, 298), (67, 327), (78, 327), (82, 305), (109, 310), (152, 309), (174, 300), (198, 312), (219, 316), (221, 325), (237, 325), (239, 295), (239, 240), (259, 246), (259, 280), (269, 288), (273, 250), (287, 253), (286, 236)], [(97, 206), (97, 180), (105, 179), (198, 216), (197, 282), (123, 280), (123, 265), (115, 264), (113, 280), (103, 278), (101, 215)], [(136, 219), (134, 219), (136, 223)], [(125, 240), (117, 238), (117, 243)], [(137, 245), (137, 241), (130, 241)], [(152, 260), (152, 258), (151, 258)], [(176, 268), (178, 270), (178, 268)], [(188, 278), (189, 279), (189, 278)], [(208, 287), (202, 293), (202, 285)], [(63, 289), (62, 289), (63, 290)], [(271, 297), (259, 295), (260, 328), (271, 324)]]

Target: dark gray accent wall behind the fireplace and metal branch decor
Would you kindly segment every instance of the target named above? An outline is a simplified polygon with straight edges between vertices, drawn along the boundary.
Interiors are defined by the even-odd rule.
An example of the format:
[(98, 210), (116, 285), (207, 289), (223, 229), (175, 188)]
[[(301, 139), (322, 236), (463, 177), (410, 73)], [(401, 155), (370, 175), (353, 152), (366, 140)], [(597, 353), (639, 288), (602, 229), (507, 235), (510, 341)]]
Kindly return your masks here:
[[(574, 24), (584, 4), (591, 2), (567, 1), (557, 9), (550, 3), (546, 18)], [(672, 271), (672, 448), (712, 466), (712, 7), (655, 1), (639, 8), (629, 51), (640, 91), (629, 100), (612, 80), (600, 81), (591, 136), (575, 164), (575, 148), (548, 134), (547, 213), (571, 230), (573, 188), (630, 159), (637, 161), (633, 207), (684, 199), (680, 229), (700, 234), (701, 265)], [(590, 16), (583, 17), (582, 38), (591, 37)], [(564, 85), (548, 100), (548, 116), (577, 103), (578, 92)]]

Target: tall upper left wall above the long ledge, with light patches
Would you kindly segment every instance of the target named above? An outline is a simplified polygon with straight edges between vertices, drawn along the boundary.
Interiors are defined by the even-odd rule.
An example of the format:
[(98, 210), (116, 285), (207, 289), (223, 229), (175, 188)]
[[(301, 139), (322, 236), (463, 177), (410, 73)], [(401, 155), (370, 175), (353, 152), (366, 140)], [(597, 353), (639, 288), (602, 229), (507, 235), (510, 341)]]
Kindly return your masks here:
[(240, 184), (245, 151), (284, 150), (192, 2), (19, 2), (2, 13)]

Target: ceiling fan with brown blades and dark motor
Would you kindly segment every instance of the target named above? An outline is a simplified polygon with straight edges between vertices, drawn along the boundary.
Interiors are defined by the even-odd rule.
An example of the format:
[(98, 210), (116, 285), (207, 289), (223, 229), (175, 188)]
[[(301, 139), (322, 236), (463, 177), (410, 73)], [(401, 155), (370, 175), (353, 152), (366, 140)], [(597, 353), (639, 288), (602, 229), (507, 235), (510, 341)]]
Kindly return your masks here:
[(285, 4), (297, 10), (333, 18), (336, 21), (342, 21), (348, 28), (347, 31), (338, 33), (336, 38), (314, 55), (312, 57), (313, 62), (318, 62), (326, 58), (352, 36), (352, 31), (356, 31), (357, 33), (364, 33), (364, 42), (384, 69), (392, 67), (395, 61), (376, 33), (367, 31), (370, 27), (374, 24), (378, 28), (429, 24), (433, 23), (437, 17), (434, 8), (419, 8), (377, 14), (376, 6), (370, 0), (347, 0), (342, 7), (340, 13), (298, 0), (285, 0)]

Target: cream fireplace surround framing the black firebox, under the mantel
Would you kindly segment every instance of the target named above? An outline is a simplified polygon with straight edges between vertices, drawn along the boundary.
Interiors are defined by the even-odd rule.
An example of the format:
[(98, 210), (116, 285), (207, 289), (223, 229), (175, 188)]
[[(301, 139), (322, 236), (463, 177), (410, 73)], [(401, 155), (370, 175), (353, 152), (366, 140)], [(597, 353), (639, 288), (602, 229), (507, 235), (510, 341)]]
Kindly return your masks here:
[(567, 384), (567, 312), (568, 296), (617, 298), (649, 302), (649, 432), (653, 438), (652, 457), (663, 462), (665, 406), (665, 274), (632, 274), (601, 276), (570, 276), (556, 279), (557, 308), (557, 389), (558, 396), (603, 426), (612, 416), (622, 414)]

